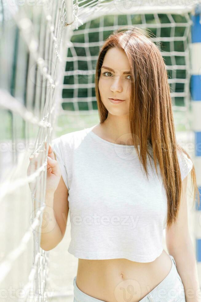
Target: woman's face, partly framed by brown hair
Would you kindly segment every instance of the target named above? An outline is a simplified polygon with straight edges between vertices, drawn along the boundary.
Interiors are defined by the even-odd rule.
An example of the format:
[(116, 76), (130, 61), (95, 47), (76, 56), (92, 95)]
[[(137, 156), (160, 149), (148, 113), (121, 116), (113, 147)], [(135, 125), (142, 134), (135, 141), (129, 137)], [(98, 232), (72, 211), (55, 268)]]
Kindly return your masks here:
[[(131, 73), (124, 50), (111, 48), (104, 56), (98, 88), (105, 108), (112, 115), (129, 113)], [(116, 98), (120, 103), (112, 103), (109, 98)]]

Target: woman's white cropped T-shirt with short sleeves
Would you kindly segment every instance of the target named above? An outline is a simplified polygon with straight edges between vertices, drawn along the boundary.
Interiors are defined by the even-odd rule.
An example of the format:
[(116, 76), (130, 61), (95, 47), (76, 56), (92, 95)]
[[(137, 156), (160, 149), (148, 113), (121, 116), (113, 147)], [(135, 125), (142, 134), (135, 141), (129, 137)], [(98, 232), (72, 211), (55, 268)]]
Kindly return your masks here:
[[(164, 249), (167, 220), (166, 193), (154, 161), (150, 157), (153, 174), (147, 157), (148, 180), (134, 146), (106, 141), (93, 127), (51, 144), (69, 190), (68, 251), (82, 259), (151, 262)], [(183, 180), (192, 161), (184, 153), (178, 160)]]

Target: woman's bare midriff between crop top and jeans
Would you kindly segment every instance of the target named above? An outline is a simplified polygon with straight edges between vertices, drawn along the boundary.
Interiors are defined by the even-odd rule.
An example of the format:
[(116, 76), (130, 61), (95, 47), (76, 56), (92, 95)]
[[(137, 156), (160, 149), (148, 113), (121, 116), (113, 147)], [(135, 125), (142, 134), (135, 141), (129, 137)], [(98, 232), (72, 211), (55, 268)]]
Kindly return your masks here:
[(165, 250), (152, 262), (128, 259), (78, 259), (77, 287), (105, 302), (138, 302), (152, 291), (171, 270)]

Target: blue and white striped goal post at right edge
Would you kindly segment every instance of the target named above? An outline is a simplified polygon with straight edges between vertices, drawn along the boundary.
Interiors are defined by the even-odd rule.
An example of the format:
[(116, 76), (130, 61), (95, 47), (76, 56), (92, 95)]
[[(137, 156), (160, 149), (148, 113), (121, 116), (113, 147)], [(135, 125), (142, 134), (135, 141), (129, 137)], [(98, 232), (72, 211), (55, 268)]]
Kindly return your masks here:
[[(191, 104), (193, 130), (195, 133), (195, 170), (201, 199), (201, 5), (191, 14)], [(195, 247), (196, 260), (201, 285), (201, 206), (195, 203)]]

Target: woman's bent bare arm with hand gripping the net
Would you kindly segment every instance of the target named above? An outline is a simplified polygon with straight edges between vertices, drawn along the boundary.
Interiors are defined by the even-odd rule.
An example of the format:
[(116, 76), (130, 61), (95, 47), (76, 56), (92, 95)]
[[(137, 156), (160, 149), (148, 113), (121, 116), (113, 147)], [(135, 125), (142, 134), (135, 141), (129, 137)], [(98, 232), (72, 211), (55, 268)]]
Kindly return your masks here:
[[(46, 149), (45, 142), (45, 149)], [(35, 172), (37, 166), (42, 164), (43, 153), (37, 152), (30, 156), (30, 164), (27, 169), (27, 175), (30, 176)], [(31, 193), (36, 191), (37, 180), (29, 183)], [(42, 213), (41, 223), (41, 240), (40, 247), (49, 251), (57, 246), (64, 237), (67, 218), (69, 213), (68, 188), (63, 180), (61, 170), (53, 152), (53, 148), (49, 145), (47, 157), (47, 177), (45, 191), (45, 208)], [(37, 208), (38, 207), (38, 208)], [(37, 215), (37, 210), (41, 208), (37, 198), (34, 198), (34, 217)]]

